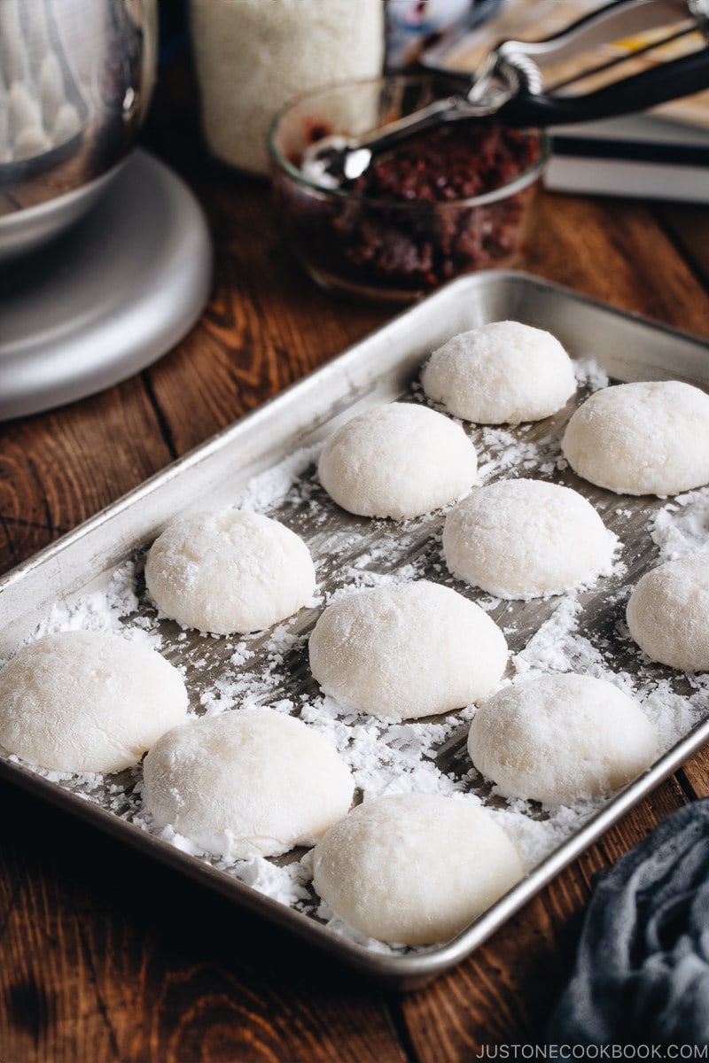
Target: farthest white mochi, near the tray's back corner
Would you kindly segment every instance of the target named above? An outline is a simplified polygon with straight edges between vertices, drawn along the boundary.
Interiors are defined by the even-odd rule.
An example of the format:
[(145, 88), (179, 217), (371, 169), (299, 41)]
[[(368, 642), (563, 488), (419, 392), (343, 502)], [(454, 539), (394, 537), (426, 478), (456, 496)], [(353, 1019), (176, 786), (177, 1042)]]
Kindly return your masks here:
[(519, 424), (556, 414), (576, 391), (559, 340), (520, 321), (492, 321), (434, 351), (423, 390), (449, 414), (476, 424)]

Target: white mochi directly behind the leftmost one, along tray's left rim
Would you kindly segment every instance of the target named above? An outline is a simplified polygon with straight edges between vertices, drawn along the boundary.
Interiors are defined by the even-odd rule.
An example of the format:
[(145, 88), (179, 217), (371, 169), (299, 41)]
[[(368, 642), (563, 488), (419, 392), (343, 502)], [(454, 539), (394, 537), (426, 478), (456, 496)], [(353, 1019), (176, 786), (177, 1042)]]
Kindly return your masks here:
[(260, 631), (306, 604), (316, 587), (310, 553), (270, 517), (225, 509), (180, 517), (148, 551), (146, 585), (185, 627), (215, 635)]

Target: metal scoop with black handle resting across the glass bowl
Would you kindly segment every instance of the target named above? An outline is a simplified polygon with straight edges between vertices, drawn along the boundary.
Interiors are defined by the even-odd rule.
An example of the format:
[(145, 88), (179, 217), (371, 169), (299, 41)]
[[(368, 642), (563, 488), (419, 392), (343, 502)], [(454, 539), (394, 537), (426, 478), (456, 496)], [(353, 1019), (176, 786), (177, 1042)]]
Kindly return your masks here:
[[(669, 26), (653, 49), (697, 31), (704, 47), (587, 95), (572, 82), (544, 84), (543, 68), (609, 40)], [(584, 70), (574, 81), (635, 58), (641, 50)], [(474, 75), (445, 71), (453, 91), (419, 111), (358, 137), (326, 136), (306, 148), (301, 170), (335, 188), (362, 174), (372, 161), (440, 122), (494, 115), (507, 125), (560, 125), (630, 114), (709, 87), (709, 0), (614, 0), (544, 40), (504, 40)], [(457, 84), (456, 84), (457, 83)], [(457, 85), (460, 87), (457, 88)]]

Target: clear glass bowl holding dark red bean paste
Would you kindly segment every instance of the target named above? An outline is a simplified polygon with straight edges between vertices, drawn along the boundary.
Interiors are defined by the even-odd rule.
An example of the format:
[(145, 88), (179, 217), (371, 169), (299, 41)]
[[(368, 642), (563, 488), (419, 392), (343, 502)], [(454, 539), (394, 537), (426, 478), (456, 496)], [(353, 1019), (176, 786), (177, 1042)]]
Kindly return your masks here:
[(320, 285), (404, 302), (523, 263), (548, 156), (541, 130), (445, 122), (336, 188), (300, 168), (322, 137), (356, 136), (452, 90), (444, 77), (393, 74), (309, 92), (276, 116), (269, 152), (283, 236)]

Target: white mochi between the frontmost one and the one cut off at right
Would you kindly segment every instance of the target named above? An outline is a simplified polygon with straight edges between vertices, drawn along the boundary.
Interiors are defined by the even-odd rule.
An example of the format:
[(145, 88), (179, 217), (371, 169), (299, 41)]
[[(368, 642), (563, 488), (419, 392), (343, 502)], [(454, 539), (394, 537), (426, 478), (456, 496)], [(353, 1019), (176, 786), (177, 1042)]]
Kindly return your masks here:
[(550, 675), (497, 691), (473, 718), (468, 752), (506, 797), (565, 805), (635, 779), (657, 755), (657, 733), (617, 687)]

